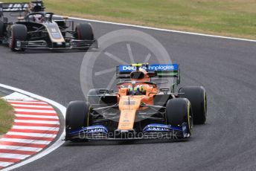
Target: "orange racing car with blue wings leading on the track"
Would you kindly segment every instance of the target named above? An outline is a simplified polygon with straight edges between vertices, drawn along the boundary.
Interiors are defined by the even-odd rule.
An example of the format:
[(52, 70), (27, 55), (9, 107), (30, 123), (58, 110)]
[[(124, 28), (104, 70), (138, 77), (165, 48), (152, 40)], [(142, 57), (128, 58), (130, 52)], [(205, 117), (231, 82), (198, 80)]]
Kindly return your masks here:
[[(119, 65), (117, 92), (91, 89), (86, 102), (72, 101), (65, 117), (65, 141), (191, 137), (193, 124), (205, 123), (202, 86), (180, 83), (178, 64)], [(157, 80), (173, 80), (159, 88)], [(169, 82), (168, 82), (169, 83)]]

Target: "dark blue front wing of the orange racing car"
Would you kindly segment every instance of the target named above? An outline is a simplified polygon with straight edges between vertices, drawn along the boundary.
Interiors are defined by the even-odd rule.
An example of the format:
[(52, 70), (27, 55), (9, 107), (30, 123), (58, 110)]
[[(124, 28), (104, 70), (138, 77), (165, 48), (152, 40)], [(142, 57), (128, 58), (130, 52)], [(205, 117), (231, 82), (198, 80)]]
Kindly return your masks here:
[(144, 127), (142, 132), (135, 130), (115, 130), (108, 132), (105, 126), (88, 126), (73, 132), (66, 132), (65, 141), (72, 139), (84, 140), (142, 140), (142, 139), (183, 139), (189, 138), (191, 133), (188, 129), (188, 123), (182, 123), (181, 126), (170, 126), (159, 123), (149, 124)]

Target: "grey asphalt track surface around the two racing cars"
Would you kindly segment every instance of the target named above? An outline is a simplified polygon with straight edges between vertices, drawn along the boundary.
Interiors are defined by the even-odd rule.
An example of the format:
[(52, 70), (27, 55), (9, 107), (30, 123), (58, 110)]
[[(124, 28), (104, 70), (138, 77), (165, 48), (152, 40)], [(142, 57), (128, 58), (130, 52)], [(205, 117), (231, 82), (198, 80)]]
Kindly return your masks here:
[[(95, 36), (129, 28), (91, 22)], [(132, 28), (138, 29), (138, 28)], [(256, 44), (231, 39), (142, 30), (164, 45), (182, 70), (182, 85), (204, 86), (208, 118), (194, 126), (185, 142), (93, 141), (64, 143), (51, 154), (16, 170), (255, 170), (256, 169)], [(136, 62), (147, 55), (132, 45)], [(127, 59), (127, 47), (109, 48)], [(83, 52), (10, 52), (0, 46), (0, 83), (22, 88), (66, 106), (83, 100), (80, 65)], [(93, 52), (89, 52), (93, 53)], [(154, 58), (150, 59), (152, 62)], [(150, 61), (151, 62), (151, 61)], [(118, 63), (98, 60), (95, 70)], [(110, 74), (94, 77), (105, 87)], [(100, 80), (100, 81), (99, 81)]]

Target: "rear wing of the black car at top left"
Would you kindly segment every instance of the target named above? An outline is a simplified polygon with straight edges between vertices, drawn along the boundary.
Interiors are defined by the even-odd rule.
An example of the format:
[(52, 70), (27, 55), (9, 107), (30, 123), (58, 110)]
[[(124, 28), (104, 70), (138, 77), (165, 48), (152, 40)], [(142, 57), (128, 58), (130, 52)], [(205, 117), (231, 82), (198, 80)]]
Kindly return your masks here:
[(5, 12), (24, 12), (27, 11), (31, 4), (33, 7), (42, 7), (42, 10), (45, 9), (42, 1), (31, 1), (31, 2), (0, 2), (0, 16), (3, 16)]

